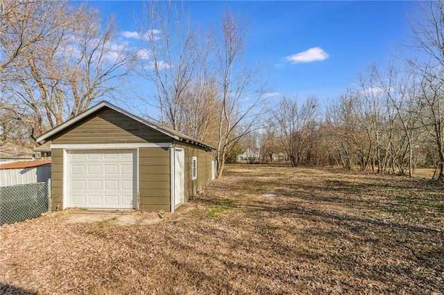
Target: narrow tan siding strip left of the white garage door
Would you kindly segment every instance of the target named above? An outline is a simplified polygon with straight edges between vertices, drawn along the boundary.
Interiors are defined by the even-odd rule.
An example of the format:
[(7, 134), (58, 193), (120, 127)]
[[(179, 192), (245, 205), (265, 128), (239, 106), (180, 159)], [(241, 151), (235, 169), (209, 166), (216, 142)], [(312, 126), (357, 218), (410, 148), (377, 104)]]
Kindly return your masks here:
[(52, 150), (51, 166), (51, 207), (52, 210), (61, 210), (63, 208), (63, 150)]

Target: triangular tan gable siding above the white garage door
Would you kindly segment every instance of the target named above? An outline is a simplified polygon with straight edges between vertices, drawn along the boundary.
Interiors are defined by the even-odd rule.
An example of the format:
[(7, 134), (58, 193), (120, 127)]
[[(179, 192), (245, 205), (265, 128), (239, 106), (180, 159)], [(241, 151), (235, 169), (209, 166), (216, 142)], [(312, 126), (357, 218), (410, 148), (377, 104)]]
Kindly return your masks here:
[(171, 138), (112, 109), (104, 109), (67, 130), (53, 143), (164, 143)]

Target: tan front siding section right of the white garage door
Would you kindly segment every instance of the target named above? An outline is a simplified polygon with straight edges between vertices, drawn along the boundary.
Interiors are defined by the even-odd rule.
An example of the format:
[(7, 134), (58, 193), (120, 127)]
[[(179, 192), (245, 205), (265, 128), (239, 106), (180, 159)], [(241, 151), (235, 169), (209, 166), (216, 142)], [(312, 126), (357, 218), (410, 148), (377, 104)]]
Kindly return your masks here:
[(170, 211), (169, 150), (139, 148), (139, 194), (143, 211)]

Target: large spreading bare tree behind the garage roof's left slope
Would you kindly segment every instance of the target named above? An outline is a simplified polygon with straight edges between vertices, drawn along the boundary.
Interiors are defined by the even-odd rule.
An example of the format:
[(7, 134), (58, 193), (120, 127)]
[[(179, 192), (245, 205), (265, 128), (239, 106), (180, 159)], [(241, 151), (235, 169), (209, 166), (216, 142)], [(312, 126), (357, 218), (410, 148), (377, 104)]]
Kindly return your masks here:
[[(26, 107), (25, 111), (35, 117), (32, 127), (37, 134), (76, 116), (97, 98), (117, 91), (121, 87), (119, 79), (128, 74), (134, 59), (126, 48), (114, 43), (112, 19), (101, 30), (97, 10), (52, 1), (42, 2), (44, 8), (49, 12), (28, 13), (41, 13), (31, 17), (40, 17), (35, 29), (51, 28), (45, 30), (49, 33), (28, 44), (28, 50), (9, 62), (11, 78), (3, 82), (3, 91), (9, 94), (5, 104)], [(17, 22), (8, 30), (21, 36), (28, 27)], [(11, 48), (15, 48), (14, 42), (21, 39), (10, 39)]]

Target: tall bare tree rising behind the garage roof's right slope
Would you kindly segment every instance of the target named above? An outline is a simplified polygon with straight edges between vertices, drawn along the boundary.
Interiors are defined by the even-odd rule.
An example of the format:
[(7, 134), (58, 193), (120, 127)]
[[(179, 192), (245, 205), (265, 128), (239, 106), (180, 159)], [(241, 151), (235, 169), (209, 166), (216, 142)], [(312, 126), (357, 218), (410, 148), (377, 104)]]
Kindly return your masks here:
[(208, 47), (203, 34), (193, 27), (184, 8), (172, 1), (144, 3), (137, 22), (144, 44), (142, 76), (157, 89), (160, 123), (189, 132), (185, 127), (189, 105), (207, 107), (206, 100), (212, 100), (208, 94), (214, 89), (207, 75)]

